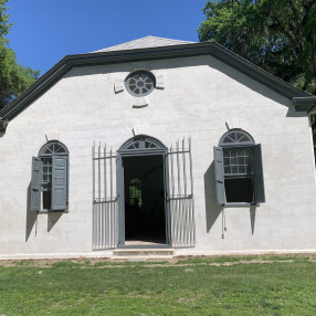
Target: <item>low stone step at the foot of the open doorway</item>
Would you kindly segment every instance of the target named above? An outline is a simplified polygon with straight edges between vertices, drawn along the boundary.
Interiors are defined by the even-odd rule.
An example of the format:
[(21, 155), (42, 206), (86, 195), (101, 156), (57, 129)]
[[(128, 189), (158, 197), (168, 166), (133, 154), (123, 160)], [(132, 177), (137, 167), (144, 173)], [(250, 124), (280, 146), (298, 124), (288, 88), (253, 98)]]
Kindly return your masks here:
[(175, 254), (173, 249), (116, 249), (113, 251), (113, 260), (170, 260)]

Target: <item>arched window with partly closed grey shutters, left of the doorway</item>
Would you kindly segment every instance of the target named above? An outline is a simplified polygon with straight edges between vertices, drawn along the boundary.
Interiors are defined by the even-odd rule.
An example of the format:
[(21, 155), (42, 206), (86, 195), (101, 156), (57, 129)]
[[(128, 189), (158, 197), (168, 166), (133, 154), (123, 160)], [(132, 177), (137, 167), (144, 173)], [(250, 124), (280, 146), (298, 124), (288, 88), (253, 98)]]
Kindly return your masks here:
[(31, 209), (66, 211), (69, 196), (69, 150), (50, 141), (32, 158)]

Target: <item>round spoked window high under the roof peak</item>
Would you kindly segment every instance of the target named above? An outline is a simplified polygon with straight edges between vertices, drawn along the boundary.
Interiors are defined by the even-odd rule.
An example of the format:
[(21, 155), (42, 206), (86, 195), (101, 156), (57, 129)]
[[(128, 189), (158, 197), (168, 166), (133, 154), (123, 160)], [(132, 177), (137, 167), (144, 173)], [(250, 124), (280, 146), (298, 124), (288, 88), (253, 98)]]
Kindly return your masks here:
[(154, 74), (147, 71), (136, 71), (125, 80), (127, 91), (134, 96), (148, 95), (156, 86)]

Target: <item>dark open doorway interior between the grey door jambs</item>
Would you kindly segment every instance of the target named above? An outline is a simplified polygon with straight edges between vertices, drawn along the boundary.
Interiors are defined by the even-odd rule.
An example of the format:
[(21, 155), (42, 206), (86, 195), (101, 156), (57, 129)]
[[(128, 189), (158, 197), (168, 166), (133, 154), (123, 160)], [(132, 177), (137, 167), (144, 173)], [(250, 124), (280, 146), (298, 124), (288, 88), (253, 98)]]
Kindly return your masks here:
[(124, 157), (125, 244), (166, 243), (164, 156)]

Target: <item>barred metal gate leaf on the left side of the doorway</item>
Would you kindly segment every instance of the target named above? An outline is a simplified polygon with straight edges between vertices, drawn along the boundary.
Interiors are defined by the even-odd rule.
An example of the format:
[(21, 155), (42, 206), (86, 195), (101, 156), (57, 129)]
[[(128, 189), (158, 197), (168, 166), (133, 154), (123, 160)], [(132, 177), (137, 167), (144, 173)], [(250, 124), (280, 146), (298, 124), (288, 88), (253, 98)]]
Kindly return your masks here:
[(93, 250), (117, 246), (116, 155), (106, 144), (92, 149), (93, 156)]

